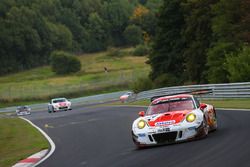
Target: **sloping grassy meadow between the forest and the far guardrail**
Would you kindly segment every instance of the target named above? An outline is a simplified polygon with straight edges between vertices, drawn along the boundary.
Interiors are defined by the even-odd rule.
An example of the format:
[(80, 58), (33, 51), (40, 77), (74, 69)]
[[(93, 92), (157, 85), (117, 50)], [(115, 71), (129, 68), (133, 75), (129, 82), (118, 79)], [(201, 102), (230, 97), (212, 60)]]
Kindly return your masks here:
[(0, 107), (23, 101), (43, 102), (56, 96), (72, 98), (127, 90), (131, 82), (150, 71), (147, 57), (131, 56), (132, 50), (120, 49), (122, 56), (108, 56), (109, 51), (80, 55), (82, 69), (76, 74), (58, 76), (45, 66), (0, 77)]

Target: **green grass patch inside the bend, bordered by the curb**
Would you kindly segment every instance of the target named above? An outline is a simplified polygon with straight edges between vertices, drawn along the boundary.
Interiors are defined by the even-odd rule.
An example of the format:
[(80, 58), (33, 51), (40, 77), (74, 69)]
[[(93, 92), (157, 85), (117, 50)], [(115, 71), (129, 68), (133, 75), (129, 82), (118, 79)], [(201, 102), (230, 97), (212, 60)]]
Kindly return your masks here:
[(48, 147), (47, 140), (24, 120), (0, 118), (1, 167), (12, 166), (19, 160)]

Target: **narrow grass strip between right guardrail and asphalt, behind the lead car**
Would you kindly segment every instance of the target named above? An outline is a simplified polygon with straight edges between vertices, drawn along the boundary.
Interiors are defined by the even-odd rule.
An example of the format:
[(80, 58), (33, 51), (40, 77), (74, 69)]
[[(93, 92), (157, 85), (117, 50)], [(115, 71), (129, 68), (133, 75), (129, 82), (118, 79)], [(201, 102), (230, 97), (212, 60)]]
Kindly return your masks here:
[[(250, 109), (250, 99), (221, 99), (221, 100), (201, 100), (203, 103), (212, 104), (215, 108), (233, 108), (233, 109)], [(112, 103), (113, 105), (121, 105), (120, 102)], [(142, 105), (148, 106), (150, 100), (139, 100), (125, 105)]]

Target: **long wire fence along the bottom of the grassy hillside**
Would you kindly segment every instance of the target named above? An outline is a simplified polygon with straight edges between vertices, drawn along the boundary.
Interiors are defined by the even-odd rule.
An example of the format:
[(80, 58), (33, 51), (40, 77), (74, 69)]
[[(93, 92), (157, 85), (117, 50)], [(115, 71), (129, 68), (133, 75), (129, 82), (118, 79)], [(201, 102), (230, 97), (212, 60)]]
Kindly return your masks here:
[(115, 88), (127, 89), (129, 84), (137, 78), (143, 76), (143, 72), (120, 73), (117, 76), (107, 74), (105, 78), (94, 79), (91, 81), (74, 81), (73, 83), (62, 84), (11, 84), (0, 85), (0, 100), (11, 101), (15, 99), (46, 99), (53, 96), (84, 96), (84, 94), (98, 93), (102, 90), (112, 90)]

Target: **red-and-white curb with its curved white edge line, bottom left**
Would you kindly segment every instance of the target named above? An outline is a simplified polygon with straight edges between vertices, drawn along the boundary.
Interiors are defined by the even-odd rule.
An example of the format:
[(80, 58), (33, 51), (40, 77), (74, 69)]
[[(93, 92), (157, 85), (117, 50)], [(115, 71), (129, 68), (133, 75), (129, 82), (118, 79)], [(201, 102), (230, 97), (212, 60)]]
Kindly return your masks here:
[(30, 123), (33, 127), (35, 127), (40, 133), (43, 134), (43, 136), (48, 140), (48, 142), (50, 143), (50, 149), (49, 150), (42, 150), (36, 154), (31, 155), (30, 157), (19, 161), (17, 164), (15, 164), (12, 167), (35, 167), (39, 164), (41, 164), (43, 161), (45, 161), (46, 159), (48, 159), (53, 152), (56, 149), (56, 145), (55, 143), (52, 141), (52, 139), (38, 126), (36, 126), (35, 124), (33, 124), (30, 120), (24, 118), (24, 117), (19, 117), (25, 121), (27, 121), (28, 123)]

